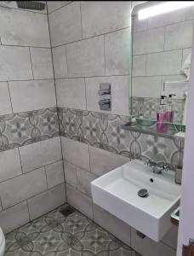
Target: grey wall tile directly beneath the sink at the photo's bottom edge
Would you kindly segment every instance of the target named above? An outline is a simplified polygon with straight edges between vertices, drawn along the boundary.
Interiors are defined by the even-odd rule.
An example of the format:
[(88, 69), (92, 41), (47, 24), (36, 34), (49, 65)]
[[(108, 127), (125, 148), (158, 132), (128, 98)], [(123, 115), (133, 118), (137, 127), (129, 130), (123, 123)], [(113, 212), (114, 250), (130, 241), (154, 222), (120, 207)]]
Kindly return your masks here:
[(144, 239), (136, 235), (136, 230), (131, 229), (131, 247), (144, 256), (175, 256), (176, 252), (162, 242), (156, 242), (148, 237)]

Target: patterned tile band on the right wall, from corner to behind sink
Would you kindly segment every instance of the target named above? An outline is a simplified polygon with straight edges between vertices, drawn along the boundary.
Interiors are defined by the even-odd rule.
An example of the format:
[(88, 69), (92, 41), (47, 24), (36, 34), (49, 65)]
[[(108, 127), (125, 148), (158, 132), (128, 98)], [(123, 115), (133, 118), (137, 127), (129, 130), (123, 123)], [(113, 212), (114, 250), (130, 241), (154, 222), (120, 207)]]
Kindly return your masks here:
[(181, 164), (183, 144), (175, 139), (154, 137), (134, 131), (123, 131), (127, 116), (58, 108), (60, 136), (96, 148), (102, 148), (131, 159), (165, 161)]

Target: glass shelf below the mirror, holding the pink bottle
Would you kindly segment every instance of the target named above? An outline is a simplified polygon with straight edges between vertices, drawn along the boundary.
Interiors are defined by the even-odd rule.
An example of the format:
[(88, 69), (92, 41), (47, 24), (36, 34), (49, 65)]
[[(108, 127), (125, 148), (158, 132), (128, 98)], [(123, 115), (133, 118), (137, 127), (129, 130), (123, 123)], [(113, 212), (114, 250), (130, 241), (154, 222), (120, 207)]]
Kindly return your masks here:
[[(133, 118), (133, 117), (132, 117)], [(138, 116), (134, 116), (136, 119), (136, 125), (132, 125), (131, 122), (128, 122), (125, 125), (122, 125), (121, 128), (127, 131), (137, 131), (140, 133), (145, 133), (158, 137), (167, 137), (167, 138), (177, 138), (180, 140), (185, 139), (185, 125), (179, 123), (165, 123), (167, 125), (167, 131), (161, 132), (157, 131), (157, 120), (156, 119), (147, 119)], [(183, 136), (178, 137), (177, 133), (182, 131)]]

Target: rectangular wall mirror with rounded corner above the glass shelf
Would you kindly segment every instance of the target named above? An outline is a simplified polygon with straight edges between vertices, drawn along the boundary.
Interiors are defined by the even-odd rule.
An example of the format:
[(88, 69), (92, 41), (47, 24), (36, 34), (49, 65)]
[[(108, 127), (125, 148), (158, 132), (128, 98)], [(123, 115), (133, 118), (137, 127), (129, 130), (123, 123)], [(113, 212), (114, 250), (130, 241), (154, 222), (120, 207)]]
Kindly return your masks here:
[(131, 114), (157, 119), (160, 97), (168, 103), (171, 94), (171, 122), (185, 125), (194, 8), (138, 19), (140, 9), (158, 3), (140, 3), (132, 11)]

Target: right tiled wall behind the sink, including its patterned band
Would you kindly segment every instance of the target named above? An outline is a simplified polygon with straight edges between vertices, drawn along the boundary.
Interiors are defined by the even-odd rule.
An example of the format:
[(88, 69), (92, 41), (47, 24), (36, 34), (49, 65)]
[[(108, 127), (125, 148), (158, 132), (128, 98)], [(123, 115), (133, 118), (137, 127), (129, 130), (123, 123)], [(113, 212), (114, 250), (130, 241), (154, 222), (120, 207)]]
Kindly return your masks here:
[[(89, 183), (130, 158), (179, 162), (182, 145), (122, 131), (128, 119), (132, 2), (48, 3), (67, 201), (144, 256), (175, 255), (177, 229), (163, 241), (135, 230), (93, 204)], [(49, 7), (50, 5), (50, 7)], [(112, 109), (100, 111), (100, 83), (111, 83)], [(106, 149), (106, 150), (104, 150)]]

